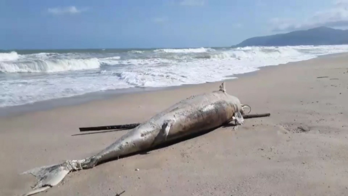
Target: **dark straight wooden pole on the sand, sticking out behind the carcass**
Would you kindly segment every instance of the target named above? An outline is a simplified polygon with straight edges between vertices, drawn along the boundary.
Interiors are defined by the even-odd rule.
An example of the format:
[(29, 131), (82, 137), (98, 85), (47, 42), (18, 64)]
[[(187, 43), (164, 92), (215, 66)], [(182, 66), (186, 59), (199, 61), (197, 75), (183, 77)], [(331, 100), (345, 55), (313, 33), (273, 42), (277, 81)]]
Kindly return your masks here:
[[(244, 119), (260, 118), (270, 116), (270, 113), (265, 114), (244, 114)], [(133, 129), (140, 125), (140, 123), (125, 124), (125, 125), (110, 125), (110, 126), (100, 126), (100, 127), (81, 127), (80, 131), (100, 131), (100, 130), (110, 130), (110, 129)]]

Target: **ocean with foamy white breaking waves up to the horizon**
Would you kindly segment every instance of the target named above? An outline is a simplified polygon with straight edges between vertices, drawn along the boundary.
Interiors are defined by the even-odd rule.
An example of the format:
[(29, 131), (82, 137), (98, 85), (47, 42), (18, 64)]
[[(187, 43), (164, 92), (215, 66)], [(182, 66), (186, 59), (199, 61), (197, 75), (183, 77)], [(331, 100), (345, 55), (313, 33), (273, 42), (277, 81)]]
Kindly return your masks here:
[(348, 45), (0, 51), (0, 107), (111, 89), (215, 82), (340, 52), (348, 52)]

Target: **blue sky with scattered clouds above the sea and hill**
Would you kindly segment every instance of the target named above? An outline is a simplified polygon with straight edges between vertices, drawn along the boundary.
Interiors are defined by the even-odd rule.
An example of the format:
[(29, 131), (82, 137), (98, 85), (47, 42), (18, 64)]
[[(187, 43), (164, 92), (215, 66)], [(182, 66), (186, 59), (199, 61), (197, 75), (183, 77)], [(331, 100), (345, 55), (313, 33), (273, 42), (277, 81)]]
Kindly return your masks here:
[(0, 0), (1, 49), (224, 47), (318, 26), (348, 0)]

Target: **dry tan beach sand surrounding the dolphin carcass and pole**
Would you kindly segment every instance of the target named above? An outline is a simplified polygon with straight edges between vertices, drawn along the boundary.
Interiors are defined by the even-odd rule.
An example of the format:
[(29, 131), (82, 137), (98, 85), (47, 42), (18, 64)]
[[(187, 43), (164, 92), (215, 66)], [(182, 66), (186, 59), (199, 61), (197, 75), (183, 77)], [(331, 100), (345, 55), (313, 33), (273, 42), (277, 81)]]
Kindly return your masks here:
[[(348, 54), (331, 55), (228, 81), (227, 92), (250, 105), (252, 113), (271, 116), (247, 119), (236, 131), (219, 128), (70, 173), (37, 195), (348, 195), (347, 62)], [(126, 132), (73, 136), (79, 127), (142, 122), (219, 85), (187, 85), (1, 118), (0, 195), (30, 190), (34, 178), (19, 173), (85, 158)]]

